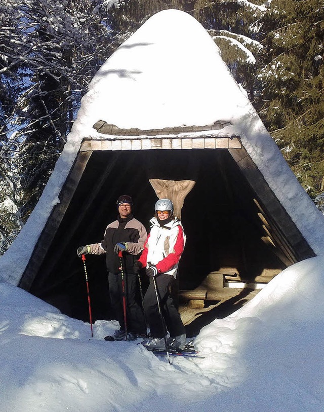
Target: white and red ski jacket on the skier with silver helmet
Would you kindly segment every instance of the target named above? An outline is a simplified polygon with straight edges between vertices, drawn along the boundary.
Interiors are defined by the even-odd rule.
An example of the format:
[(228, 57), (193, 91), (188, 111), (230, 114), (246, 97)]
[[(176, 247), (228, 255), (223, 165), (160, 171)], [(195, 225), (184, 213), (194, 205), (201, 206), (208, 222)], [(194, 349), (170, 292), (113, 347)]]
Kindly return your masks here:
[(160, 226), (156, 217), (150, 220), (151, 232), (148, 235), (139, 261), (143, 268), (149, 263), (154, 265), (158, 273), (177, 276), (179, 260), (182, 255), (186, 236), (182, 224), (177, 217), (164, 226)]

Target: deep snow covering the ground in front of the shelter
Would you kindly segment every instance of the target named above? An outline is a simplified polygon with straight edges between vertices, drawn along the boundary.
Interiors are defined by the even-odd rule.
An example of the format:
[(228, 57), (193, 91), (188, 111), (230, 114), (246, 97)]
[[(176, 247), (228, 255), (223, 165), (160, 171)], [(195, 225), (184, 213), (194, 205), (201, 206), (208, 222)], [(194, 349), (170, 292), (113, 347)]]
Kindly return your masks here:
[(0, 284), (2, 412), (319, 412), (324, 410), (324, 258), (277, 275), (248, 304), (205, 326), (205, 358), (158, 359), (105, 342), (118, 325), (68, 318)]

